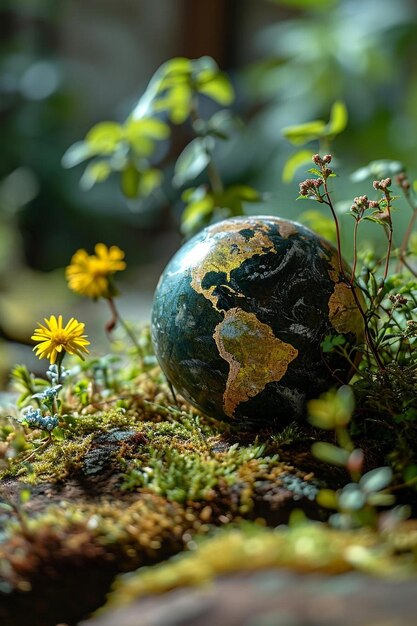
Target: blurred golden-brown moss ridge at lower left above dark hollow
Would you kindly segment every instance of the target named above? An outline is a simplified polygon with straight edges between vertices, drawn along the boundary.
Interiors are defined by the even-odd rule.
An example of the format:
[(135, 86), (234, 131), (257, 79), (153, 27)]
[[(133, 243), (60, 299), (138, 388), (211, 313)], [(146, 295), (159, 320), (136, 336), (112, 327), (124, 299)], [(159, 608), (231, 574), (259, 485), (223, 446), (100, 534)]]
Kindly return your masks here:
[(119, 570), (161, 561), (181, 550), (190, 533), (208, 531), (201, 513), (151, 494), (132, 503), (62, 501), (23, 527), (9, 523), (8, 538), (0, 544), (0, 582), (27, 590), (40, 572), (45, 579), (62, 576), (74, 561), (85, 566), (95, 561), (97, 567), (117, 557)]

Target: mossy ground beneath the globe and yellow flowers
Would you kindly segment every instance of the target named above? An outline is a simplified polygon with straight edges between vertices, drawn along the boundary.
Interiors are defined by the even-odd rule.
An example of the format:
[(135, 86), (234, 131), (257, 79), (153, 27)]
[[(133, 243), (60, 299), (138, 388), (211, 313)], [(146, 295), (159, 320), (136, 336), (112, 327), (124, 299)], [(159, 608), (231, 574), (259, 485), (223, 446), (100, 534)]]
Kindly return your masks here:
[[(11, 505), (0, 543), (3, 623), (27, 624), (30, 611), (33, 626), (76, 624), (104, 603), (118, 573), (136, 568), (115, 601), (247, 567), (417, 572), (412, 522), (384, 536), (324, 523), (315, 495), (343, 484), (343, 472), (313, 459), (312, 429), (242, 432), (175, 403), (157, 367), (122, 376), (88, 402), (68, 389), (57, 437), (1, 418), (3, 452), (12, 451), (1, 474)], [(282, 526), (296, 510), (321, 521)]]

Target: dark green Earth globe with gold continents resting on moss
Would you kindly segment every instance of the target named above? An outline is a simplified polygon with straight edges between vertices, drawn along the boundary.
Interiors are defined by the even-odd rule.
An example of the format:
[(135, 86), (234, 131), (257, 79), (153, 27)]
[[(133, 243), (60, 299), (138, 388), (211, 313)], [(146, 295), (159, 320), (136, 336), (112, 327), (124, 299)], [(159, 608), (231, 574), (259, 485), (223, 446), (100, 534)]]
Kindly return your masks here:
[(201, 413), (250, 428), (302, 420), (309, 398), (348, 381), (349, 362), (323, 352), (328, 335), (363, 337), (337, 252), (278, 217), (204, 229), (155, 292), (152, 340), (168, 381)]

